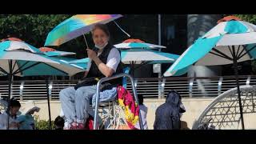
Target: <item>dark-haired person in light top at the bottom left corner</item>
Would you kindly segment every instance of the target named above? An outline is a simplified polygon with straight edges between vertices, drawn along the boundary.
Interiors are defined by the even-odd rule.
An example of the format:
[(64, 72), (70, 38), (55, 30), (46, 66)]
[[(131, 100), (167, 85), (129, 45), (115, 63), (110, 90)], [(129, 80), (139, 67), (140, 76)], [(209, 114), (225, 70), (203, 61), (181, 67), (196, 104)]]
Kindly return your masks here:
[(0, 114), (0, 130), (7, 130), (7, 122), (8, 122), (8, 115), (9, 115), (9, 130), (18, 130), (20, 124), (17, 120), (17, 113), (18, 110), (21, 108), (20, 102), (16, 99), (10, 99), (10, 114), (4, 112)]

